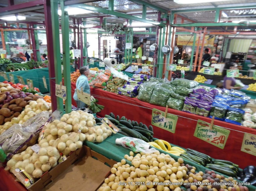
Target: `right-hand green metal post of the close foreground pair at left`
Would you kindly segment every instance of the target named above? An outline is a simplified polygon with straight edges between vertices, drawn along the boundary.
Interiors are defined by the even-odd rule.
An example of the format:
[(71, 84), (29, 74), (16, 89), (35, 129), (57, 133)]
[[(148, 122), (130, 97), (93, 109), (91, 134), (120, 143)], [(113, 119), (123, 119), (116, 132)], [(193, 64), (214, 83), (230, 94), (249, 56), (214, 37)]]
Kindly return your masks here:
[(71, 112), (71, 83), (70, 83), (70, 57), (69, 57), (69, 15), (65, 10), (64, 1), (61, 4), (61, 32), (63, 47), (63, 77), (64, 86), (67, 87), (67, 100), (65, 101), (65, 112)]

